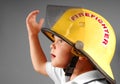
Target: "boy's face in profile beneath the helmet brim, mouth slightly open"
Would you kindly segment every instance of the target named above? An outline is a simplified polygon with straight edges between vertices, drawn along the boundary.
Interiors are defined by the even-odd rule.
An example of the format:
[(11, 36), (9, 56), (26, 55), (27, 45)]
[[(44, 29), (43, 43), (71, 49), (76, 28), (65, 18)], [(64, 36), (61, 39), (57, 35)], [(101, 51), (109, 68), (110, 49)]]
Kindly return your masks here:
[(72, 46), (57, 36), (54, 36), (54, 40), (50, 45), (52, 65), (54, 67), (65, 68), (72, 58)]

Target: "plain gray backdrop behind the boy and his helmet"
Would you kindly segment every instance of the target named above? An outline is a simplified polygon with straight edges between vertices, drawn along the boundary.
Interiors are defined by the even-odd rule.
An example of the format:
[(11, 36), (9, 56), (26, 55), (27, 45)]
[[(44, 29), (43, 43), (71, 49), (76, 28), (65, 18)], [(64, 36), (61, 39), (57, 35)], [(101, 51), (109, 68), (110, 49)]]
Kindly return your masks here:
[[(0, 0), (0, 84), (53, 84), (33, 70), (25, 19), (34, 9), (45, 17), (47, 4), (80, 6), (104, 16), (113, 26), (117, 47), (111, 67), (120, 84), (120, 1), (119, 0)], [(50, 41), (41, 33), (41, 44), (49, 58)]]

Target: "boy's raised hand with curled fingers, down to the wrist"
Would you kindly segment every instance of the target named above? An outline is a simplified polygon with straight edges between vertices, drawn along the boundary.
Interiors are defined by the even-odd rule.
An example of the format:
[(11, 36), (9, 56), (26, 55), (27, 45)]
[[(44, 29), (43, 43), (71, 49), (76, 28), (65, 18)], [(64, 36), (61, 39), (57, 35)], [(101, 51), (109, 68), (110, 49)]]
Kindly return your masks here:
[(38, 35), (43, 25), (44, 19), (40, 19), (39, 22), (36, 21), (36, 16), (39, 10), (34, 10), (26, 18), (26, 26), (29, 35)]

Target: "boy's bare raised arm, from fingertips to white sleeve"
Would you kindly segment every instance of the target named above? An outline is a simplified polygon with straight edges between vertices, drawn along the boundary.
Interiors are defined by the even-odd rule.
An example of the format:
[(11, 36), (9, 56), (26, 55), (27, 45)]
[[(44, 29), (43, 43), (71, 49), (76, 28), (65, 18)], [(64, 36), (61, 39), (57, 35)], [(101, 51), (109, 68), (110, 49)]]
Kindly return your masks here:
[(30, 45), (30, 55), (34, 69), (44, 75), (47, 75), (45, 64), (47, 62), (46, 56), (41, 48), (38, 34), (41, 31), (44, 19), (36, 22), (36, 16), (39, 10), (32, 11), (26, 18), (26, 26), (28, 30), (28, 38)]

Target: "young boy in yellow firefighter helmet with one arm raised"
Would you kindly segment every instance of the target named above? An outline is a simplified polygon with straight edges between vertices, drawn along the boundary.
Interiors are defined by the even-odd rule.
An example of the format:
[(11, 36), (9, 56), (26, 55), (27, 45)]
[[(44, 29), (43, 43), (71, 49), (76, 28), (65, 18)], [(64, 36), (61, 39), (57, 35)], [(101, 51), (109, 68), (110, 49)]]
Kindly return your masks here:
[[(48, 11), (52, 12), (54, 8), (59, 9), (60, 7), (48, 6)], [(57, 12), (60, 11), (58, 9), (56, 9)], [(62, 9), (64, 9), (64, 7), (62, 7)], [(102, 67), (104, 65), (102, 65), (101, 60), (105, 61), (106, 59), (102, 56), (100, 57), (101, 54), (99, 52), (105, 54), (105, 50), (101, 51), (102, 48), (98, 47), (104, 44), (105, 46), (109, 46), (109, 42), (106, 41), (108, 35), (111, 35), (112, 40), (115, 40), (114, 32), (112, 32), (112, 35), (111, 30), (107, 29), (105, 26), (107, 24), (107, 26), (111, 28), (111, 26), (106, 23), (106, 20), (104, 21), (101, 16), (96, 15), (96, 13), (89, 10), (67, 7), (62, 15), (60, 15), (60, 18), (55, 21), (55, 24), (51, 26), (51, 29), (42, 29), (42, 32), (53, 41), (50, 45), (51, 62), (47, 62), (38, 38), (44, 19), (40, 19), (39, 22), (36, 22), (36, 16), (38, 13), (39, 10), (34, 10), (26, 18), (31, 60), (33, 67), (37, 72), (49, 76), (55, 84), (114, 84), (114, 79), (111, 78), (111, 74), (109, 76), (109, 73), (105, 73), (105, 70)], [(54, 14), (52, 14), (52, 16), (55, 17)], [(91, 24), (90, 22), (95, 24)], [(103, 22), (105, 24), (103, 24)], [(99, 28), (96, 30), (96, 27), (100, 27), (101, 25), (104, 26), (103, 28), (106, 27), (106, 29), (100, 30)], [(90, 33), (88, 33), (89, 31)], [(86, 41), (87, 36), (83, 36), (86, 35), (86, 33), (91, 35), (90, 37), (92, 39), (87, 35), (88, 38)], [(97, 40), (99, 41), (99, 38), (101, 39), (100, 35), (97, 33), (103, 36), (103, 41), (101, 42), (103, 44), (101, 45), (95, 44)], [(96, 36), (94, 34), (96, 34)], [(108, 38), (109, 41), (111, 40), (111, 36)], [(91, 43), (90, 46), (89, 43)], [(114, 51), (114, 44), (112, 45), (112, 51)], [(97, 50), (97, 48), (99, 51), (94, 51)], [(95, 52), (94, 54), (96, 56), (97, 54), (100, 54), (98, 55), (99, 58), (95, 58), (91, 52)], [(109, 64), (105, 64), (105, 67), (106, 66), (109, 67)]]

